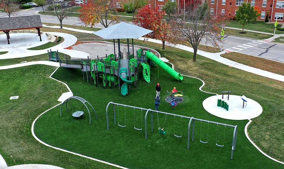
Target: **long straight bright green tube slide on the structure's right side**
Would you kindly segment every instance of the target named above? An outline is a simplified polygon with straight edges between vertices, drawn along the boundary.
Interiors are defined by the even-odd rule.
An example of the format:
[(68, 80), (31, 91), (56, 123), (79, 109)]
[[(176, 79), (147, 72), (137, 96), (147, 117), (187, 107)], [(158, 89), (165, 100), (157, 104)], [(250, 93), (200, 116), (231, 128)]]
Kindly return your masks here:
[(183, 76), (180, 75), (180, 73), (173, 70), (173, 68), (169, 67), (165, 62), (163, 62), (161, 59), (159, 59), (156, 55), (154, 55), (150, 51), (146, 52), (146, 57), (151, 59), (154, 63), (156, 63), (158, 66), (164, 69), (168, 74), (176, 78), (178, 81), (183, 80)]

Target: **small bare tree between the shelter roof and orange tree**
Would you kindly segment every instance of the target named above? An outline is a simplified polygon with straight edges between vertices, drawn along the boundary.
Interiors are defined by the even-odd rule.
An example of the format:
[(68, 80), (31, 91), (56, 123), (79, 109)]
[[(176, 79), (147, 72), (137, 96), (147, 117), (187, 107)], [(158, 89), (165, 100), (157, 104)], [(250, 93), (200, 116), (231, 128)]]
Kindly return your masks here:
[(62, 21), (63, 19), (67, 18), (68, 16), (71, 16), (72, 13), (74, 13), (76, 8), (69, 7), (66, 2), (60, 2), (60, 1), (53, 1), (53, 5), (50, 5), (48, 7), (48, 11), (53, 13), (53, 16), (56, 16), (60, 22), (60, 28), (62, 28)]

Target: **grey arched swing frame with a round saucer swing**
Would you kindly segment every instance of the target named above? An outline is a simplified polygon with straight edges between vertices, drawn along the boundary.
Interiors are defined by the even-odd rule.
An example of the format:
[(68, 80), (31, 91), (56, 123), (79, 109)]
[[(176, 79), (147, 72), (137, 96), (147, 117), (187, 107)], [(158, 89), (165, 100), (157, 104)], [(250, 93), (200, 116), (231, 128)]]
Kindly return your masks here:
[[(70, 99), (76, 99), (76, 100), (79, 100), (80, 102), (83, 103), (83, 106), (82, 106), (82, 108), (81, 108), (80, 111), (78, 111), (78, 110), (73, 106), (73, 104), (71, 104)], [(91, 106), (91, 108), (92, 108), (93, 111), (95, 112), (96, 119), (98, 120), (97, 113), (96, 113), (95, 109), (93, 108), (93, 106), (92, 106), (88, 101), (86, 101), (85, 99), (80, 98), (80, 97), (78, 97), (78, 96), (71, 96), (71, 97), (67, 98), (65, 101), (62, 102), (61, 107), (60, 107), (60, 117), (62, 117), (62, 107), (63, 107), (63, 104), (64, 104), (64, 103), (66, 103), (66, 109), (67, 109), (67, 112), (69, 112), (69, 109), (68, 109), (68, 107), (67, 107), (67, 102), (68, 102), (69, 105), (70, 105), (71, 111), (72, 111), (72, 107), (76, 110), (75, 112), (72, 111), (72, 112), (73, 112), (73, 113), (72, 113), (72, 116), (73, 116), (74, 118), (79, 118), (79, 117), (83, 116), (83, 115), (84, 115), (84, 108), (87, 108), (87, 111), (88, 111), (88, 113), (89, 113), (90, 124), (91, 124), (91, 113), (90, 113), (90, 111), (89, 111), (89, 108), (88, 108), (87, 105), (85, 104), (85, 103), (87, 103), (87, 104), (89, 104), (89, 106)]]

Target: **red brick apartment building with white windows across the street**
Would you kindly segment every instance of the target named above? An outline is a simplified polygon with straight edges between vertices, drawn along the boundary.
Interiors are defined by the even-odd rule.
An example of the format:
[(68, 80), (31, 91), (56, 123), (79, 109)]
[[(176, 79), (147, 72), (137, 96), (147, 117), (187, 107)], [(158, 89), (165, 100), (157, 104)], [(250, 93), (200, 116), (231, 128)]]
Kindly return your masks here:
[[(85, 1), (85, 0), (84, 0)], [(115, 3), (116, 8), (122, 8), (121, 2), (127, 2), (128, 0), (118, 0)], [(179, 6), (178, 11), (182, 11), (183, 4), (187, 0), (170, 0), (176, 2)], [(275, 22), (276, 18), (279, 22), (283, 22), (284, 15), (284, 0), (202, 0), (207, 2), (210, 7), (211, 14), (224, 14), (234, 16), (239, 5), (243, 2), (251, 3), (251, 6), (256, 6), (261, 12), (261, 15), (257, 18), (258, 20), (265, 20), (268, 13), (269, 21)], [(162, 8), (168, 0), (148, 0), (152, 8)], [(181, 2), (181, 3), (180, 3)]]

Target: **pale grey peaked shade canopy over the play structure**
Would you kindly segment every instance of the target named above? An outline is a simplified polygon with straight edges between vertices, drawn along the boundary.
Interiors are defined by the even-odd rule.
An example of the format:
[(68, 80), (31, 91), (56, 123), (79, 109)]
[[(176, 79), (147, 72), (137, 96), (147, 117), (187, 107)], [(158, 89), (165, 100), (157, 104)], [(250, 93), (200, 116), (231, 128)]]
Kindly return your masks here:
[(108, 28), (101, 29), (93, 34), (98, 35), (104, 39), (132, 39), (140, 38), (152, 32), (149, 29), (141, 28), (136, 25), (120, 22)]

